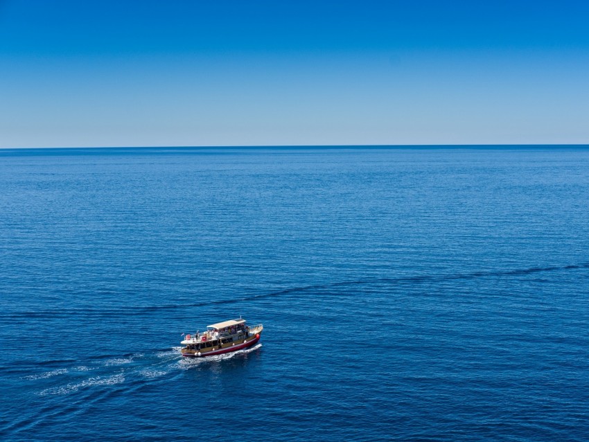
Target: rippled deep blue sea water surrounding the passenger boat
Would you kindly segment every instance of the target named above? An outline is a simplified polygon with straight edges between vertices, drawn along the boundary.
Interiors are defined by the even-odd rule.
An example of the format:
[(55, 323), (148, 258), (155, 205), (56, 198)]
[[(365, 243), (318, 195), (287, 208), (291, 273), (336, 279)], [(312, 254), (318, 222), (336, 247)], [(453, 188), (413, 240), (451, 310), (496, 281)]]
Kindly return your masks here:
[(1, 439), (589, 440), (588, 203), (582, 146), (0, 150)]

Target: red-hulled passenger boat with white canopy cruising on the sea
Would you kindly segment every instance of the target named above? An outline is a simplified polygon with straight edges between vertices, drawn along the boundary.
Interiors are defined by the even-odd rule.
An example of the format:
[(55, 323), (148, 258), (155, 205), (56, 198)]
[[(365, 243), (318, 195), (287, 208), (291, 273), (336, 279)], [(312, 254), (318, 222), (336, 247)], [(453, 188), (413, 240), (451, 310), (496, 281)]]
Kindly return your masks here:
[(182, 356), (206, 357), (231, 353), (255, 345), (262, 334), (262, 324), (247, 326), (245, 319), (231, 319), (206, 326), (206, 331), (186, 335), (180, 343)]

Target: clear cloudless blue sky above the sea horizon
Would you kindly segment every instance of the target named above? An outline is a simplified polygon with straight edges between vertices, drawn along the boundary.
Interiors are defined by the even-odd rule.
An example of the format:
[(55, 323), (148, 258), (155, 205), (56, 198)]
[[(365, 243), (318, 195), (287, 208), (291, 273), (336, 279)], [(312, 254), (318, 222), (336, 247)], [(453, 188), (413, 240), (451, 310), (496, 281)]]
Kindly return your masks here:
[(589, 143), (588, 1), (0, 0), (0, 148)]

